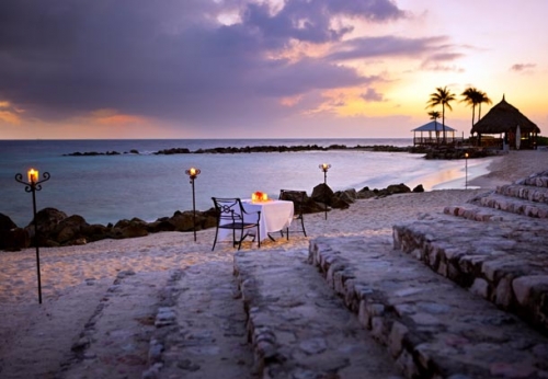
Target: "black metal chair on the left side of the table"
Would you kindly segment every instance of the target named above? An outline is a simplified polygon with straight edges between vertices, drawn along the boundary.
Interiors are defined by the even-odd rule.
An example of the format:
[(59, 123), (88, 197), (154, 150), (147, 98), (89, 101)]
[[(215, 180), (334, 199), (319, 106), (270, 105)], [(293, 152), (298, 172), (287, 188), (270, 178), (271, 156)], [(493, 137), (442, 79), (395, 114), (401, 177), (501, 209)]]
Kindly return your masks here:
[[(215, 204), (215, 211), (217, 214), (217, 229), (215, 230), (215, 241), (213, 242), (212, 251), (215, 250), (215, 245), (217, 244), (219, 229), (232, 230), (232, 246), (236, 248), (238, 244), (238, 250), (240, 250), (241, 242), (248, 236), (253, 236), (253, 241), (255, 240), (255, 234), (250, 234), (248, 231), (256, 228), (256, 239), (259, 241), (259, 248), (261, 248), (261, 232), (259, 230), (261, 211), (247, 213), (241, 204), (241, 199), (238, 197), (212, 197), (212, 199)], [(240, 234), (239, 239), (236, 239), (237, 231), (239, 231)]]

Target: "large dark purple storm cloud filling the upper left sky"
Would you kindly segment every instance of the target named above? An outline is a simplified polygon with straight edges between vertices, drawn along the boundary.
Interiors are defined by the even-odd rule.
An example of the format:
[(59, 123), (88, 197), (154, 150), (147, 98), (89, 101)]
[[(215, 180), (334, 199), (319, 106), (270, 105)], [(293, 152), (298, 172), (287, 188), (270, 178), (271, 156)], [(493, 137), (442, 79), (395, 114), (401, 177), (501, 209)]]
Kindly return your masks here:
[[(227, 12), (240, 21), (218, 23)], [(329, 59), (272, 59), (290, 41), (339, 42), (352, 26), (332, 28), (338, 16), (404, 13), (388, 0), (288, 0), (277, 10), (237, 0), (2, 0), (0, 101), (50, 120), (99, 108), (194, 123), (273, 116), (287, 112), (275, 96), (375, 80)], [(363, 57), (378, 51), (354, 44)]]

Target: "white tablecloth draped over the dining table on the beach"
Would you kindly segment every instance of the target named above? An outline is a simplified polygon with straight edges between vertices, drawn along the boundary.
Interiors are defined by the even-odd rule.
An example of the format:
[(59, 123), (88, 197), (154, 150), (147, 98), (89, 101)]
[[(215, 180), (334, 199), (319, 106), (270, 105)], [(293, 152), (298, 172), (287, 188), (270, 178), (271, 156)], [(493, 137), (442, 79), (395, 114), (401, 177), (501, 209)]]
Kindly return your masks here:
[[(261, 232), (261, 241), (269, 238), (269, 233), (281, 231), (289, 227), (293, 221), (294, 207), (293, 202), (287, 200), (269, 200), (260, 203), (251, 203), (251, 199), (242, 199), (243, 209), (248, 213), (261, 211), (259, 221), (259, 231)], [(256, 215), (243, 215), (244, 221), (255, 222)], [(254, 231), (254, 230), (249, 230)], [(225, 240), (232, 238), (232, 231), (219, 229), (219, 239)]]

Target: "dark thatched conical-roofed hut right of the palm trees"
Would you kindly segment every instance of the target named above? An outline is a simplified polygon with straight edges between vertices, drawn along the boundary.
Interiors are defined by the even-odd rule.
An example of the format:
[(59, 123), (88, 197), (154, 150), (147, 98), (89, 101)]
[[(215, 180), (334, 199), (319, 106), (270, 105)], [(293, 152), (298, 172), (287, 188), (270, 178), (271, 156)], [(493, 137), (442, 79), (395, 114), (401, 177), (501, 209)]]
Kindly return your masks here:
[(525, 142), (522, 145), (524, 148), (535, 148), (536, 136), (540, 129), (515, 106), (509, 104), (504, 95), (502, 101), (494, 105), (471, 129), (471, 134), (477, 133), (480, 139), (481, 135), (504, 135), (506, 143), (520, 148), (520, 142), (516, 143), (515, 140), (516, 131), (522, 142)]

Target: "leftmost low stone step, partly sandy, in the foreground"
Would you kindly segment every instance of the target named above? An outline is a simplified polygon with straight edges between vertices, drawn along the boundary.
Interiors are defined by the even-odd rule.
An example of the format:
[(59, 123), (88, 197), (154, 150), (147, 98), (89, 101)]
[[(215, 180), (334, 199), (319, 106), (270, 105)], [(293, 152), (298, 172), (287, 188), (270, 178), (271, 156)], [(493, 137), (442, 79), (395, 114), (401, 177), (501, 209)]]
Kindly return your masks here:
[(158, 292), (169, 272), (121, 272), (109, 287), (58, 376), (64, 379), (140, 378), (148, 367)]

